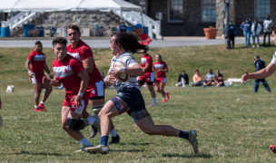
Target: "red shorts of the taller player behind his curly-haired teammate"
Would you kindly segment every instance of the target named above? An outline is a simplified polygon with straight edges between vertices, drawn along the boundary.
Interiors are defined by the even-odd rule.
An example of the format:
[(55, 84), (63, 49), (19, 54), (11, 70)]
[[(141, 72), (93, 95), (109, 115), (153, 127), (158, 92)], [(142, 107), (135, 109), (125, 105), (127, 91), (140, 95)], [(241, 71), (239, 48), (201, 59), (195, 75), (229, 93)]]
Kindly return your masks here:
[(103, 79), (99, 80), (98, 82), (89, 83), (86, 88), (88, 99), (90, 101), (104, 99), (104, 89), (105, 84)]

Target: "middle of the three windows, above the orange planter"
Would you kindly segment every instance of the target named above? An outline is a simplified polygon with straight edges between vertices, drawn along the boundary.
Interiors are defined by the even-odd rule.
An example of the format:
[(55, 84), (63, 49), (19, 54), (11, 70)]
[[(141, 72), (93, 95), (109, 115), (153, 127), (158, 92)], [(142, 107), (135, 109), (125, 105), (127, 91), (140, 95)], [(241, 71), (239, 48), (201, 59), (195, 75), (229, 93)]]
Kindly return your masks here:
[(202, 0), (202, 22), (216, 21), (216, 0)]

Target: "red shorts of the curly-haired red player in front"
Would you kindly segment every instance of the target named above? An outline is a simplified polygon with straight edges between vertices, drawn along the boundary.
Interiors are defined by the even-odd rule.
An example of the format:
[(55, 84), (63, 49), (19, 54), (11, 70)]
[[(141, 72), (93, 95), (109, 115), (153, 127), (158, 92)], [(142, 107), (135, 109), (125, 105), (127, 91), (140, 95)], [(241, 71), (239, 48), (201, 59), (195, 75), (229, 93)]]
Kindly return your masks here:
[(82, 108), (76, 108), (75, 101), (71, 101), (76, 94), (67, 94), (65, 95), (64, 104), (63, 106), (69, 106), (71, 107), (71, 110), (78, 114), (83, 114), (84, 110), (86, 110), (87, 104), (88, 104), (88, 95), (87, 93), (84, 93), (83, 101), (82, 101)]

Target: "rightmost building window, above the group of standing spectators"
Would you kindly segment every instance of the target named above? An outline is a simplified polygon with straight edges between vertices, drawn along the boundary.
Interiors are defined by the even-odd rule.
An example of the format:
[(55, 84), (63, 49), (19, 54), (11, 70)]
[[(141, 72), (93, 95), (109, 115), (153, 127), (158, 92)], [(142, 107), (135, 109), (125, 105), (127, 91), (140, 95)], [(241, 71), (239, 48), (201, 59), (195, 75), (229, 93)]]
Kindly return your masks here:
[(255, 17), (262, 21), (266, 19), (267, 14), (271, 14), (271, 2), (270, 0), (256, 0), (255, 1)]

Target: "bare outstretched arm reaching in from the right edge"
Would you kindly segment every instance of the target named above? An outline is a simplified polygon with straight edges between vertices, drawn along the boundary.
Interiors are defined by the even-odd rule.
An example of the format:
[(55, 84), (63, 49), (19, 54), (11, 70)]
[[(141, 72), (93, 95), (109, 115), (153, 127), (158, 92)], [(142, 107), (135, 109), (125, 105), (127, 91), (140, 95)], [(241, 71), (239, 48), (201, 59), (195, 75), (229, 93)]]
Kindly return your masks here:
[(276, 65), (271, 62), (266, 68), (261, 69), (258, 72), (248, 73), (245, 71), (245, 74), (242, 75), (242, 82), (246, 82), (249, 79), (264, 79), (270, 77), (273, 72), (276, 70)]

